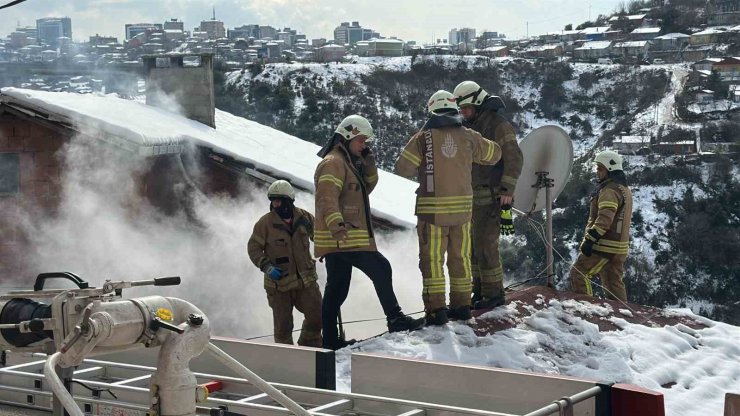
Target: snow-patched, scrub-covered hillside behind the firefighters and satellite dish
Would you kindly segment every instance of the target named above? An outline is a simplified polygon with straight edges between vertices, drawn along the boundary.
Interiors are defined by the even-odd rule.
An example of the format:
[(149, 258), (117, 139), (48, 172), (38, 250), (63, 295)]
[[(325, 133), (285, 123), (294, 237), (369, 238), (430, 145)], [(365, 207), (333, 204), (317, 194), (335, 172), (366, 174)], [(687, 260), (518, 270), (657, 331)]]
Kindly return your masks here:
[[(653, 140), (732, 140), (733, 120), (683, 121), (685, 65), (625, 66), (535, 62), (484, 57), (359, 58), (344, 64), (270, 64), (225, 75), (219, 108), (323, 144), (345, 115), (376, 127), (381, 165), (391, 169), (406, 140), (425, 120), (424, 103), (438, 89), (474, 79), (500, 95), (523, 138), (545, 124), (569, 132), (577, 160), (555, 203), (558, 286), (566, 287), (587, 216), (590, 157), (624, 133)], [(719, 132), (719, 134), (717, 133)], [(740, 322), (740, 173), (723, 156), (630, 156), (635, 219), (626, 283), (630, 299), (688, 306), (718, 320)], [(518, 217), (517, 236), (502, 256), (507, 283), (541, 277), (537, 222)], [(688, 236), (691, 236), (690, 239)], [(698, 243), (698, 244), (697, 244)]]

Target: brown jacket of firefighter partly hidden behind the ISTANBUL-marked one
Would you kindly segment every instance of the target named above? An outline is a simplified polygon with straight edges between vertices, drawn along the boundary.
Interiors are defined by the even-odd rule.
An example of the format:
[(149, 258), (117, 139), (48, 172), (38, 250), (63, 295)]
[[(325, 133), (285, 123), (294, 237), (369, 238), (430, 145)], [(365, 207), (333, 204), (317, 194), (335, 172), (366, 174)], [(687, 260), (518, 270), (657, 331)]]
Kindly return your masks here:
[(522, 173), (523, 156), (516, 141), (514, 128), (498, 109), (501, 98), (491, 96), (481, 105), (478, 117), (469, 127), (501, 147), (501, 161), (495, 166), (473, 165), (473, 188), (476, 205), (490, 205), (497, 195), (514, 195), (514, 188)]

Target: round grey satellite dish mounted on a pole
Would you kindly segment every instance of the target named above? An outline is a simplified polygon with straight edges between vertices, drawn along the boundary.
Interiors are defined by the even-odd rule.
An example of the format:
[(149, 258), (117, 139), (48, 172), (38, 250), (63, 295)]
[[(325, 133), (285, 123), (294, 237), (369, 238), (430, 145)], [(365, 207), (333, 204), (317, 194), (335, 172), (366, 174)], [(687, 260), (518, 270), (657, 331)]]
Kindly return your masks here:
[(542, 126), (534, 129), (519, 143), (524, 156), (522, 173), (514, 189), (514, 208), (532, 213), (547, 208), (543, 175), (551, 180), (552, 200), (563, 191), (573, 167), (573, 143), (561, 127)]

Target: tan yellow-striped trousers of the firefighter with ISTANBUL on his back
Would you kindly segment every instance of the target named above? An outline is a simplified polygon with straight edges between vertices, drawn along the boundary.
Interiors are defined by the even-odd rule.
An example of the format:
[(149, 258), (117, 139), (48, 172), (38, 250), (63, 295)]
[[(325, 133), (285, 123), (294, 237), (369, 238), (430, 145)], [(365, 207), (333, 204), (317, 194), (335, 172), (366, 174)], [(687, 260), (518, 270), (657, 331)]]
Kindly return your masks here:
[(444, 308), (445, 274), (450, 275), (450, 308), (470, 306), (470, 222), (461, 225), (438, 226), (422, 220), (416, 231), (419, 236), (419, 268), (423, 279), (422, 299), (424, 310), (433, 312)]

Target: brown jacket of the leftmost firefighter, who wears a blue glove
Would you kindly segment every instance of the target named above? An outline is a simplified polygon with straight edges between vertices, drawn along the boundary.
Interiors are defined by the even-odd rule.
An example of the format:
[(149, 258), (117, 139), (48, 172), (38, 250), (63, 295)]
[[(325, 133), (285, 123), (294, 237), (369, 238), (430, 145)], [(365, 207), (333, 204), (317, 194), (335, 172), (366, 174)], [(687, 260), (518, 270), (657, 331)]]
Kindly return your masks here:
[[(281, 292), (307, 287), (317, 280), (316, 261), (311, 257), (309, 239), (314, 238), (314, 217), (308, 211), (293, 208), (293, 222), (288, 225), (270, 211), (254, 225), (247, 243), (247, 254), (255, 266), (264, 271), (268, 264), (279, 267), (283, 277), (275, 281), (264, 276), (265, 289)], [(303, 281), (303, 286), (299, 284)]]

